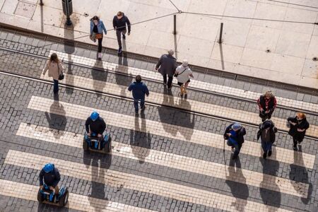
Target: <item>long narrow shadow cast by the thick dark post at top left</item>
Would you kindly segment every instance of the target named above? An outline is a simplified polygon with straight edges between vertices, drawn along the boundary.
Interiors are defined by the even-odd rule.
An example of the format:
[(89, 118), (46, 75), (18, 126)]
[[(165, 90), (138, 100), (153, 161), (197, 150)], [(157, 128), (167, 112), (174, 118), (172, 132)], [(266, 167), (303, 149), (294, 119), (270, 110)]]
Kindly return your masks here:
[[(73, 86), (74, 78), (73, 78), (73, 72), (72, 72), (72, 66), (73, 66), (73, 60), (71, 58), (71, 54), (75, 52), (75, 42), (74, 42), (74, 30), (73, 25), (66, 25), (64, 24), (64, 52), (68, 54), (68, 61), (69, 64), (67, 65), (66, 73), (68, 75), (65, 76), (65, 83), (66, 85)], [(66, 93), (71, 95), (73, 93), (73, 88), (66, 88)]]

